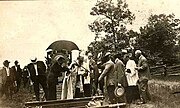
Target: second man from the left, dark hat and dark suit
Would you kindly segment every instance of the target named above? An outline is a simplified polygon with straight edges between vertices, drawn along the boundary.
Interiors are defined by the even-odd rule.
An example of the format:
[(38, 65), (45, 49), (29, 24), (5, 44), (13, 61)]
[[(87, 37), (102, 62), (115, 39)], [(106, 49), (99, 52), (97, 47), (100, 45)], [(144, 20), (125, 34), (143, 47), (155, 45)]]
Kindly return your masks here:
[(15, 75), (15, 81), (16, 81), (16, 92), (19, 91), (19, 88), (20, 88), (20, 85), (21, 85), (21, 78), (22, 78), (22, 69), (20, 68), (20, 65), (18, 65), (18, 61), (16, 60), (14, 62), (14, 66), (12, 66), (12, 72), (14, 73)]

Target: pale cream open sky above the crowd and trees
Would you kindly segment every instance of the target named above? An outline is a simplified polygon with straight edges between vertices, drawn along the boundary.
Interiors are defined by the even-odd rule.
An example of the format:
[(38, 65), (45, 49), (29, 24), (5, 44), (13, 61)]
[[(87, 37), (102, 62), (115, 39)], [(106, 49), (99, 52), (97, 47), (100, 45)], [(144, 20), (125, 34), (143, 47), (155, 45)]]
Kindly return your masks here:
[[(86, 50), (94, 40), (88, 24), (97, 0), (0, 1), (0, 67), (18, 60), (21, 67), (36, 56), (45, 60), (46, 48), (57, 40), (70, 40)], [(139, 30), (151, 14), (178, 12), (179, 0), (126, 0), (136, 19), (128, 29)]]

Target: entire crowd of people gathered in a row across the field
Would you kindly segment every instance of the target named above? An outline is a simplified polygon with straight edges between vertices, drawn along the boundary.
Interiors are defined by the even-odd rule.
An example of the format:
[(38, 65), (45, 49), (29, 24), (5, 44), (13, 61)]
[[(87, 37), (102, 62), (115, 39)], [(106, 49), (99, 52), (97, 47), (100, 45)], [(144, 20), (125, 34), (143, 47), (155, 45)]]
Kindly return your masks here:
[[(37, 101), (40, 100), (40, 85), (46, 100), (56, 100), (59, 83), (62, 84), (61, 99), (104, 95), (108, 103), (147, 103), (150, 100), (150, 70), (140, 50), (124, 50), (117, 54), (107, 52), (99, 59), (100, 63), (93, 57), (91, 53), (87, 58), (80, 55), (68, 64), (63, 55), (57, 54), (50, 65), (34, 58), (23, 69), (17, 60), (12, 67), (5, 60), (0, 72), (0, 97), (5, 94), (6, 98), (12, 98), (23, 82), (24, 88), (33, 85)], [(60, 81), (62, 73), (65, 76)], [(123, 96), (115, 95), (117, 87), (124, 88)]]

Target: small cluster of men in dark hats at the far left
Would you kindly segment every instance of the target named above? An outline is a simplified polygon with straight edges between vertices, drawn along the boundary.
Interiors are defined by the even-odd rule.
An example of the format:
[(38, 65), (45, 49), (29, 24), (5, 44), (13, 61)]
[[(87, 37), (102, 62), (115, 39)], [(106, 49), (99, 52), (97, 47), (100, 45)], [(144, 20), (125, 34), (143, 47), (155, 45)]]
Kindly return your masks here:
[[(29, 80), (27, 68), (21, 69), (19, 62), (16, 60), (14, 66), (9, 66), (10, 61), (5, 60), (0, 70), (0, 98), (5, 94), (6, 99), (12, 99), (13, 94), (18, 93), (20, 86), (26, 88)], [(23, 82), (23, 83), (22, 83)]]

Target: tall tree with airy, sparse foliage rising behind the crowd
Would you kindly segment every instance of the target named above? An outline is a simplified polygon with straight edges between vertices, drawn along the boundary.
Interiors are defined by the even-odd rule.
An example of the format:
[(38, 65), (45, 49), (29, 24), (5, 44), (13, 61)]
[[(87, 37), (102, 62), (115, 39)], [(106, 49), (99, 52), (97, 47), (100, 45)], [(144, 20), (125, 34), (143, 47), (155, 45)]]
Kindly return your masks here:
[[(94, 22), (88, 25), (89, 29), (95, 33), (95, 41), (90, 44), (93, 47), (90, 48), (91, 52), (102, 50), (113, 52), (115, 49), (127, 46), (129, 38), (126, 34), (126, 24), (132, 24), (135, 16), (128, 9), (126, 2), (123, 0), (117, 0), (117, 3), (112, 2), (112, 0), (97, 1), (96, 5), (92, 7), (90, 15), (97, 17)], [(100, 37), (100, 33), (105, 36)], [(101, 38), (101, 42), (96, 42), (98, 38)]]

